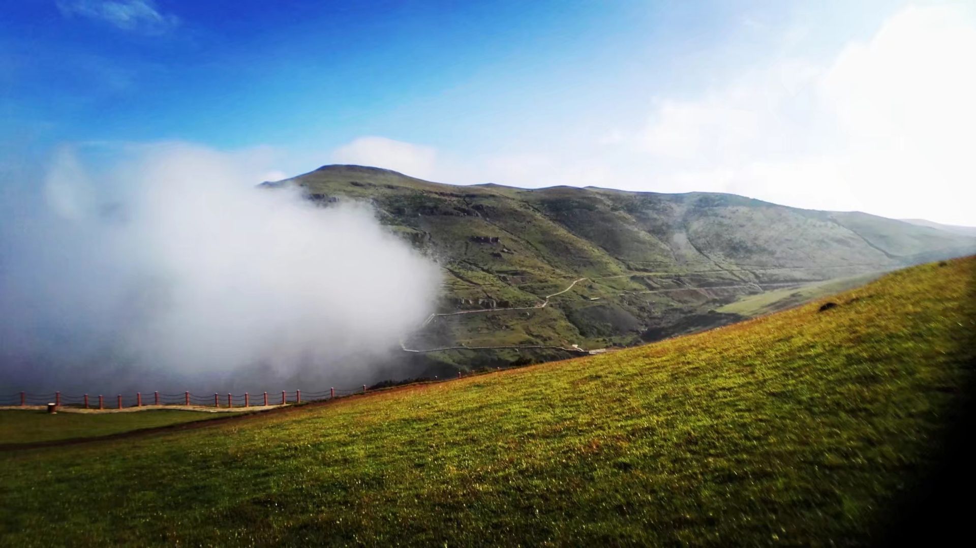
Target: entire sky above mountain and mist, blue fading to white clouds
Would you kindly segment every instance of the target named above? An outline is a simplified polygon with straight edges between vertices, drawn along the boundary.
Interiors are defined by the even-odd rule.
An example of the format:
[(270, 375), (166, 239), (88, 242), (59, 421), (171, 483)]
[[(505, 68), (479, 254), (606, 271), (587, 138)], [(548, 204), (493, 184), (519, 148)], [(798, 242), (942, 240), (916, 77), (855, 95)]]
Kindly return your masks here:
[(345, 161), (972, 224), (946, 199), (976, 198), (967, 5), (26, 0), (0, 8), (0, 144), (183, 141), (260, 151), (263, 177)]

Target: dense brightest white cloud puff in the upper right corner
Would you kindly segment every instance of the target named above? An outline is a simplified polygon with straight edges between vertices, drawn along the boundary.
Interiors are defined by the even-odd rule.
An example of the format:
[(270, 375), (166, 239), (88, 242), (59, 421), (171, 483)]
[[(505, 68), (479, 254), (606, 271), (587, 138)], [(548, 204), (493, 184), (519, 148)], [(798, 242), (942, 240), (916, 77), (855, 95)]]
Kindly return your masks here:
[(821, 92), (846, 140), (836, 161), (863, 201), (891, 216), (976, 222), (971, 14), (952, 7), (897, 14), (870, 42), (844, 50)]

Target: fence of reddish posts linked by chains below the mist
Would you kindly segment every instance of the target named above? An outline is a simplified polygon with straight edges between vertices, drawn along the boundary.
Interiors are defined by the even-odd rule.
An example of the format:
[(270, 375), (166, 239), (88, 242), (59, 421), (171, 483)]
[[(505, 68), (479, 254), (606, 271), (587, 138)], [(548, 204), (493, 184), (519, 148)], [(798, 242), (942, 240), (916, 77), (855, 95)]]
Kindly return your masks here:
[[(462, 373), (458, 372), (458, 378)], [(433, 382), (447, 380), (434, 377)], [(378, 389), (382, 390), (382, 389)], [(148, 405), (182, 405), (196, 407), (254, 407), (263, 405), (286, 405), (289, 403), (301, 403), (302, 401), (322, 401), (334, 400), (344, 396), (354, 394), (366, 394), (370, 389), (366, 385), (354, 389), (330, 388), (318, 392), (262, 392), (234, 395), (231, 393), (214, 393), (212, 396), (192, 394), (163, 394), (154, 392), (137, 392), (135, 394), (116, 394), (105, 396), (103, 394), (62, 394), (54, 392), (50, 394), (31, 394), (27, 392), (17, 392), (14, 394), (0, 395), (0, 406), (7, 407), (26, 407), (36, 405), (47, 405), (55, 403), (59, 406), (78, 407), (84, 409), (124, 409), (128, 407), (144, 407)]]

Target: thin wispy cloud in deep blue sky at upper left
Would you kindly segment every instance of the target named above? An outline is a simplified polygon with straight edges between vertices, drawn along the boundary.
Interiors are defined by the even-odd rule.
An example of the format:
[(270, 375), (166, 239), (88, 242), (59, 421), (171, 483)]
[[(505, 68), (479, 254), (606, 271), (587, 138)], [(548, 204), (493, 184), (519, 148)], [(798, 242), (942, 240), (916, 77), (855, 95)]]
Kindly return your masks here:
[(57, 5), (66, 18), (103, 21), (145, 34), (162, 34), (180, 24), (179, 18), (160, 12), (152, 0), (59, 0)]

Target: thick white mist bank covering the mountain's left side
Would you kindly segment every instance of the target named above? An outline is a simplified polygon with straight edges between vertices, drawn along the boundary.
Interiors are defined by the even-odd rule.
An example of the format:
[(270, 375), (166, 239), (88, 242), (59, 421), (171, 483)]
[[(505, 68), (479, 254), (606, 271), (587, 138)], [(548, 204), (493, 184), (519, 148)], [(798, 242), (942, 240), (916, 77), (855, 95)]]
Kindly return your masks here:
[[(310, 390), (396, 376), (436, 265), (366, 204), (258, 187), (240, 156), (61, 151), (0, 213), (5, 391)], [(321, 386), (319, 386), (321, 385)]]

